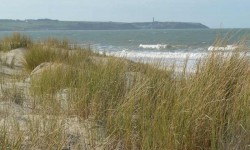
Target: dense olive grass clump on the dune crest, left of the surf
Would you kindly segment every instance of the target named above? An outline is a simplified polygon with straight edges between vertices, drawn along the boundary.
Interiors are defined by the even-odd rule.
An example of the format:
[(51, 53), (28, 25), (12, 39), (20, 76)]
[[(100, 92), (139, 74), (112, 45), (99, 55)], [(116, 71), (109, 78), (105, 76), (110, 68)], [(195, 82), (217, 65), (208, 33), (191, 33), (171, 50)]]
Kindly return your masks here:
[[(68, 49), (71, 47), (70, 49)], [(32, 71), (35, 67), (44, 62), (71, 63), (77, 65), (88, 61), (88, 56), (96, 56), (90, 49), (70, 46), (68, 42), (56, 39), (48, 39), (43, 44), (36, 43), (29, 47), (25, 55), (26, 69)]]

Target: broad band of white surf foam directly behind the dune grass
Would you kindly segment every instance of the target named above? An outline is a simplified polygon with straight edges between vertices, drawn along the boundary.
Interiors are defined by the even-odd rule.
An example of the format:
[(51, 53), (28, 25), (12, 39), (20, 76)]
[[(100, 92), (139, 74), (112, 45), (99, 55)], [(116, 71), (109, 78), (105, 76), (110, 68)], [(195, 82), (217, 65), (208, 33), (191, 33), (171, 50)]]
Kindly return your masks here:
[[(99, 51), (103, 53), (102, 51)], [(225, 55), (230, 55), (232, 51), (227, 51)], [(107, 51), (106, 55), (115, 57), (124, 57), (132, 61), (140, 61), (144, 63), (156, 63), (162, 66), (168, 67), (171, 64), (176, 65), (176, 72), (182, 72), (183, 66), (187, 60), (187, 72), (194, 72), (196, 70), (196, 62), (199, 59), (203, 59), (208, 56), (211, 52), (204, 51), (204, 49), (193, 50), (193, 51), (139, 51), (139, 50), (128, 50), (123, 49), (120, 51)], [(242, 54), (243, 55), (243, 54)], [(247, 53), (249, 56), (250, 53)], [(250, 56), (249, 56), (250, 57)]]

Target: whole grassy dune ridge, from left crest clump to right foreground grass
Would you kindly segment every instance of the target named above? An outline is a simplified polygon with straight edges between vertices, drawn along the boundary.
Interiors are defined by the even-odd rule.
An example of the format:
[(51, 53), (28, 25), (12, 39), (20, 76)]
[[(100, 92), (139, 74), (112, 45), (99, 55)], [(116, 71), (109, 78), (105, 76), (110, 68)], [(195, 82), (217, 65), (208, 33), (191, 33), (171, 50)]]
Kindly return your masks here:
[[(92, 119), (103, 130), (89, 132), (102, 137), (103, 149), (248, 148), (250, 62), (241, 49), (212, 52), (196, 64), (195, 73), (176, 76), (174, 67), (159, 70), (49, 43), (33, 43), (25, 57), (28, 70), (57, 64), (32, 78), (33, 109), (45, 116)], [(56, 99), (62, 90), (68, 93), (66, 107)], [(63, 130), (57, 123), (53, 127)], [(0, 139), (8, 142), (5, 132)], [(55, 133), (57, 148), (65, 143), (62, 132)], [(44, 141), (46, 148), (53, 145)]]

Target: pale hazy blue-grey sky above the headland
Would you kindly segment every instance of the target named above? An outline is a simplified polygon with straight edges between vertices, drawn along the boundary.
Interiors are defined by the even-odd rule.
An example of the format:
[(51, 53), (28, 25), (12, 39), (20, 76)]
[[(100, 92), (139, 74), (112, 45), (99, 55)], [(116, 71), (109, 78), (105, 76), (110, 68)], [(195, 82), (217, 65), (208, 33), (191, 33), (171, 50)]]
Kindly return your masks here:
[(0, 19), (200, 22), (250, 28), (250, 0), (0, 0)]

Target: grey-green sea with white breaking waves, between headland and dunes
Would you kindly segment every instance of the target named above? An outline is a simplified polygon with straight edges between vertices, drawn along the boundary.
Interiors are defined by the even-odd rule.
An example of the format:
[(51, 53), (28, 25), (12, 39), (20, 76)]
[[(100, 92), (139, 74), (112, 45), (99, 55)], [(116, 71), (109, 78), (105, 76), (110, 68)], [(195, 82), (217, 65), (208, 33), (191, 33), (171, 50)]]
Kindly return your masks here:
[[(0, 38), (12, 33), (0, 31)], [(211, 53), (208, 49), (216, 46), (218, 39), (226, 41), (224, 46), (237, 45), (239, 41), (250, 45), (250, 29), (45, 30), (20, 33), (36, 41), (48, 37), (66, 38), (72, 44), (91, 47), (97, 53), (132, 61), (181, 66), (188, 60), (189, 68)]]

